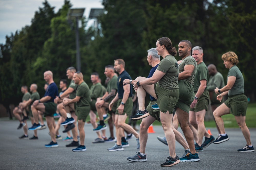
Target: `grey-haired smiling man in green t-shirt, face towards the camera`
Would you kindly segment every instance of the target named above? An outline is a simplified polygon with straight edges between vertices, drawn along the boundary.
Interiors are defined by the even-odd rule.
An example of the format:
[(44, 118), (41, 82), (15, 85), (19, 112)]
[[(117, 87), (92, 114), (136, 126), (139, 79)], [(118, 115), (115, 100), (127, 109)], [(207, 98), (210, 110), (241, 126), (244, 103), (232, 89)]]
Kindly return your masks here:
[(195, 73), (194, 81), (194, 93), (195, 99), (190, 105), (189, 109), (189, 122), (190, 128), (193, 131), (194, 138), (196, 141), (196, 151), (203, 151), (202, 139), (205, 135), (205, 142), (209, 146), (215, 138), (210, 135), (205, 129), (204, 117), (208, 110), (209, 104), (209, 91), (208, 91), (208, 69), (203, 61), (203, 49), (202, 47), (196, 46), (192, 49), (192, 57), (196, 60), (197, 68)]

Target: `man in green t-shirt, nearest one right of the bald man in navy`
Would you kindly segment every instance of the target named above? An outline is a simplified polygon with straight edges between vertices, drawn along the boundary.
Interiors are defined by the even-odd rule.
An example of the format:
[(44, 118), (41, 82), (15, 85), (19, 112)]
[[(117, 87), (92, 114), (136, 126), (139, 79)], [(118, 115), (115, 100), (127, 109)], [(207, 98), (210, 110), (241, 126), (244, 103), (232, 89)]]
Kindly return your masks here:
[(76, 115), (78, 119), (80, 145), (76, 149), (72, 149), (72, 151), (86, 151), (86, 147), (84, 146), (84, 123), (90, 112), (90, 89), (83, 81), (83, 74), (80, 71), (74, 73), (73, 80), (74, 83), (78, 85), (76, 97), (72, 100), (68, 100), (67, 98), (63, 99), (63, 105), (67, 106), (68, 104), (77, 102)]

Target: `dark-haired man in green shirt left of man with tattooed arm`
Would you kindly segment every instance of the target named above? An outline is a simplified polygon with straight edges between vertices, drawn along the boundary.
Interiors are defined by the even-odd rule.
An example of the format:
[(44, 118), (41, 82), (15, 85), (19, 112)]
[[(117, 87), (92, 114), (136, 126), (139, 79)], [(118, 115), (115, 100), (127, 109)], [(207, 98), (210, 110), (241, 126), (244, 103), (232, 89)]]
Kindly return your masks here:
[[(102, 128), (100, 130), (95, 130), (97, 128), (97, 122), (96, 122), (96, 113), (97, 113), (97, 109), (96, 109), (96, 101), (97, 98), (101, 98), (104, 95), (104, 90), (101, 86), (100, 80), (99, 80), (99, 74), (97, 72), (94, 72), (91, 74), (91, 82), (92, 82), (92, 86), (90, 88), (90, 92), (91, 92), (91, 102), (90, 102), (90, 106), (91, 106), (91, 110), (90, 110), (90, 120), (91, 120), (91, 124), (93, 127), (93, 131), (96, 132), (97, 134), (97, 138), (94, 139), (94, 141), (92, 141), (92, 143), (101, 143), (104, 142), (103, 137), (105, 138), (106, 136), (106, 128), (107, 126), (104, 124), (104, 121), (100, 121), (100, 125), (102, 125)], [(102, 131), (102, 135), (99, 131)], [(103, 136), (103, 137), (102, 137)]]

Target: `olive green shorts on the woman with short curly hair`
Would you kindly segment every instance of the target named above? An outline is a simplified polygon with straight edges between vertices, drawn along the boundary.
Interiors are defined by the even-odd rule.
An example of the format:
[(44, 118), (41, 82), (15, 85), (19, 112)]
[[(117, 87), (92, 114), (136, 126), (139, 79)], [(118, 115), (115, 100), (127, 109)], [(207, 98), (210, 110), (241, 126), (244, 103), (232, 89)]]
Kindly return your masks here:
[(224, 102), (228, 108), (230, 108), (230, 113), (234, 116), (245, 116), (248, 99), (244, 94), (238, 94), (229, 96), (228, 99)]

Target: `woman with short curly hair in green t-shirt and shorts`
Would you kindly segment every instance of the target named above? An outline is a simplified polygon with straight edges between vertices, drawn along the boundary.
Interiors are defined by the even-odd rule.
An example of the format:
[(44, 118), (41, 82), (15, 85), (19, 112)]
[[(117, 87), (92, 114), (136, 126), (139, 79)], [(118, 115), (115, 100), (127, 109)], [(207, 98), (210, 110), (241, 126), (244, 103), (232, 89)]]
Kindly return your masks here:
[(215, 144), (225, 142), (229, 140), (228, 135), (224, 129), (224, 122), (221, 116), (225, 114), (233, 114), (237, 121), (238, 126), (241, 128), (243, 136), (246, 140), (246, 146), (242, 149), (238, 149), (238, 152), (253, 152), (254, 148), (251, 144), (250, 132), (245, 123), (246, 109), (248, 105), (247, 97), (244, 95), (244, 81), (243, 75), (239, 68), (238, 57), (233, 51), (229, 51), (222, 55), (221, 59), (224, 61), (224, 65), (229, 69), (227, 77), (227, 85), (219, 89), (216, 87), (214, 90), (217, 96), (217, 100), (221, 101), (223, 96), (228, 95), (228, 99), (222, 103), (214, 112), (214, 118), (220, 128), (221, 134), (213, 142)]

